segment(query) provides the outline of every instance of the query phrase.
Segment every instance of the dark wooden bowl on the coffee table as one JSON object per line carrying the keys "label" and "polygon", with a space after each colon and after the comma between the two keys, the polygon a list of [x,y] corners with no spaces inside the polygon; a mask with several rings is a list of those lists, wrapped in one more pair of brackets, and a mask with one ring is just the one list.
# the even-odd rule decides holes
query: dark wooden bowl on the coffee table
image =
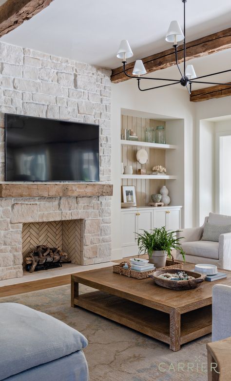
{"label": "dark wooden bowl on the coffee table", "polygon": [[152,275],[149,275],[154,279],[154,282],[158,286],[170,288],[172,290],[193,290],[200,285],[201,282],[205,280],[206,274],[194,273],[192,271],[186,271],[188,275],[194,276],[195,279],[190,280],[169,280],[164,278],[158,278],[159,275],[170,273],[181,273],[182,270],[172,269],[172,270],[157,270]]}

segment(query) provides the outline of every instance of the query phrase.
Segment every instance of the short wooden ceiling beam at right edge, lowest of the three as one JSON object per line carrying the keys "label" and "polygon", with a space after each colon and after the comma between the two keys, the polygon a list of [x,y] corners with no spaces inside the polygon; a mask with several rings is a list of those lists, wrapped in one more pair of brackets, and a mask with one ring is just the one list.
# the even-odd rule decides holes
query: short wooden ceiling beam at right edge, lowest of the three
{"label": "short wooden ceiling beam at right edge, lowest of the three", "polygon": [[[228,84],[231,84],[231,82],[228,82]],[[231,86],[216,85],[193,90],[190,96],[190,101],[202,102],[213,98],[228,97],[229,95],[231,95]]]}

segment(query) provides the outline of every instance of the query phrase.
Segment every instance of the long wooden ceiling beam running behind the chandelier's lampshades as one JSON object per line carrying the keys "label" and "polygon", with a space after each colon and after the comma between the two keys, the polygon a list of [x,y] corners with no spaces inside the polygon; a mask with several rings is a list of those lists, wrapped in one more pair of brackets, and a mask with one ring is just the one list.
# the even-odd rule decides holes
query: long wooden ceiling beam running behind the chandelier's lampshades
{"label": "long wooden ceiling beam running behind the chandelier's lampshades", "polygon": [[[213,33],[209,36],[202,37],[201,39],[188,42],[186,44],[186,60],[192,60],[193,58],[207,56],[212,53],[219,52],[231,48],[231,28],[222,30],[217,33]],[[183,45],[178,48],[179,62],[183,62]],[[156,70],[166,69],[169,66],[175,65],[174,49],[168,49],[163,52],[153,54],[152,56],[142,59],[147,70],[147,73],[152,73]],[[132,74],[132,70],[135,62],[128,63],[128,74]],[[111,81],[113,83],[123,82],[129,78],[125,76],[123,67],[117,67],[112,70]]]}

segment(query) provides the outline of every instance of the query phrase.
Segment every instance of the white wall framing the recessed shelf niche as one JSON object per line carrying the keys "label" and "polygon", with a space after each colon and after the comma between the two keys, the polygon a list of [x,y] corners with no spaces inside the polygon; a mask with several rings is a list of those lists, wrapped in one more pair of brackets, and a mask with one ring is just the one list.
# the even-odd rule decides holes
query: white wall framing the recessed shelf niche
{"label": "white wall framing the recessed shelf niche", "polygon": [[112,181],[114,196],[112,205],[112,249],[113,257],[121,254],[120,242],[120,114],[121,108],[145,113],[169,115],[184,120],[184,218],[185,226],[194,226],[194,110],[186,89],[163,88],[140,92],[136,81],[129,80],[112,84]]}

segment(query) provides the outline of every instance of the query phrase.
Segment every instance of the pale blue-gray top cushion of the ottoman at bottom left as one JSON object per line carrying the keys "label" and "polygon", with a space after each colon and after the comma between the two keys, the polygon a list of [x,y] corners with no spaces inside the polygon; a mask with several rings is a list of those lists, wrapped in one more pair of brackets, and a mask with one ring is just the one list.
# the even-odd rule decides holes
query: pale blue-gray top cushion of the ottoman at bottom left
{"label": "pale blue-gray top cushion of the ottoman at bottom left", "polygon": [[87,339],[42,312],[0,303],[0,380],[85,348]]}

